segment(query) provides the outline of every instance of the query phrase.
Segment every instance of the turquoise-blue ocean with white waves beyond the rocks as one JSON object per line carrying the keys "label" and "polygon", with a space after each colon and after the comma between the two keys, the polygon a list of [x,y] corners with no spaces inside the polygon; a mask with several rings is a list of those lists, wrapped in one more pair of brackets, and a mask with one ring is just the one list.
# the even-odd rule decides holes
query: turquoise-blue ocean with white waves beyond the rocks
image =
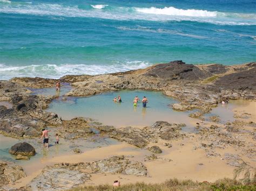
{"label": "turquoise-blue ocean with white waves beyond the rocks", "polygon": [[0,0],[0,80],[256,61],[255,0]]}

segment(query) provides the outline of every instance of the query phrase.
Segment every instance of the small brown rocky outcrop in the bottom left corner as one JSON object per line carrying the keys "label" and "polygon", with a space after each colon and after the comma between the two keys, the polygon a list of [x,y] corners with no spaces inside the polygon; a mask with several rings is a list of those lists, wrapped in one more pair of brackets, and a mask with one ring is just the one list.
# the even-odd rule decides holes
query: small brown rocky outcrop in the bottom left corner
{"label": "small brown rocky outcrop in the bottom left corner", "polygon": [[14,184],[25,176],[26,174],[21,166],[0,160],[0,189],[9,183]]}

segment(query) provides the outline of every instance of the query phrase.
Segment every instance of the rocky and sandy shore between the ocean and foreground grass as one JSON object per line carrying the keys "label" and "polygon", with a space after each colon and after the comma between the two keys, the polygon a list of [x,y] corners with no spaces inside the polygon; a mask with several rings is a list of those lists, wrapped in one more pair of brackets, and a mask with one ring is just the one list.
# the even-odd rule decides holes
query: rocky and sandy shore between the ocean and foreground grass
{"label": "rocky and sandy shore between the ocean and foreground grass", "polygon": [[[165,73],[166,66],[167,68],[171,66],[171,69],[174,68],[174,70]],[[233,71],[234,73],[229,73],[228,71],[235,67],[214,65],[213,70],[217,70],[221,75],[218,74],[217,80],[215,79],[207,84],[202,82],[209,79],[208,75],[210,73],[207,71],[212,70],[212,68],[209,69],[207,68],[208,66],[197,68],[197,66],[186,65],[178,61],[170,62],[169,65],[156,65],[124,73],[63,77],[65,82],[71,83],[73,87],[64,97],[96,95],[105,91],[131,89],[131,86],[133,89],[161,91],[163,94],[177,98],[180,101],[172,105],[172,108],[177,112],[198,109],[198,111],[192,112],[191,118],[189,118],[190,123],[198,130],[197,132],[184,132],[181,131],[182,124],[167,122],[156,122],[152,126],[135,125],[129,128],[122,126],[114,128],[99,124],[93,119],[79,117],[64,121],[59,116],[45,111],[56,96],[30,95],[31,91],[26,89],[26,87],[49,88],[55,83],[55,80],[16,78],[11,81],[0,81],[1,86],[4,87],[4,91],[0,89],[0,100],[4,101],[3,106],[0,105],[1,115],[4,119],[0,123],[0,130],[10,132],[5,135],[17,137],[20,136],[19,131],[21,131],[24,133],[23,137],[33,139],[33,137],[40,134],[39,130],[42,126],[55,126],[53,128],[56,128],[56,132],[62,132],[63,140],[65,139],[68,145],[72,145],[73,140],[78,140],[79,138],[89,140],[93,136],[98,136],[98,138],[107,136],[117,140],[119,143],[100,148],[93,147],[89,151],[80,154],[71,154],[70,151],[72,150],[70,150],[68,155],[61,154],[48,158],[45,161],[41,161],[41,170],[38,169],[35,173],[29,173],[26,178],[16,180],[16,185],[10,183],[9,187],[19,188],[31,184],[33,186],[35,182],[42,179],[41,176],[44,173],[40,172],[43,167],[43,172],[55,171],[55,169],[56,171],[58,169],[74,171],[72,165],[60,167],[53,165],[56,163],[62,164],[62,162],[65,164],[76,163],[78,167],[75,168],[74,172],[79,175],[84,173],[91,175],[91,178],[86,179],[84,183],[81,180],[80,186],[112,184],[113,179],[121,179],[121,183],[137,181],[160,183],[170,178],[214,182],[221,178],[233,178],[234,169],[241,166],[242,162],[247,165],[245,170],[250,169],[251,173],[251,169],[256,169],[256,161],[253,160],[254,154],[251,152],[255,147],[253,133],[256,123],[256,111],[254,109],[256,107],[256,91],[253,83],[248,84],[247,81],[239,82],[233,78],[240,79],[241,75],[245,75],[245,77],[251,75],[247,71],[254,71],[255,66],[256,64],[254,65],[254,63],[241,65],[240,69],[236,66],[238,70]],[[177,70],[179,71],[178,73]],[[176,74],[172,75],[174,72]],[[193,73],[197,73],[197,75]],[[198,75],[204,77],[198,79]],[[221,89],[223,87],[222,78],[226,83],[227,80],[230,80],[226,89]],[[250,76],[248,79],[251,79]],[[142,85],[139,83],[140,81],[145,81],[146,83]],[[232,83],[239,84],[237,87],[251,86],[251,89],[236,89]],[[218,90],[217,88],[220,89]],[[8,89],[7,92],[5,91],[6,89]],[[249,101],[245,101],[248,103],[246,105],[242,102],[241,105],[232,108],[231,114],[235,116],[234,121],[226,122],[225,116],[216,115],[210,120],[210,117],[206,115],[211,114],[212,108],[218,107],[218,102],[223,97],[228,97],[230,100]],[[10,105],[6,105],[6,101],[12,104],[12,108],[9,107]],[[23,104],[22,107],[21,104]],[[24,119],[26,123],[24,123]],[[9,126],[6,126],[6,123],[9,123]],[[17,124],[21,125],[19,131],[15,129]],[[23,129],[23,125],[24,127],[25,125],[29,126],[30,131]],[[161,128],[157,129],[158,126]],[[98,132],[93,132],[90,128],[95,128]],[[72,136],[69,136],[69,134]],[[100,139],[98,140],[100,141]],[[151,147],[159,147],[161,153],[149,151]],[[116,159],[111,158],[114,155],[125,155],[125,157],[116,161]],[[129,167],[140,165],[138,169],[142,172],[146,169],[146,176],[124,174],[124,172],[131,172],[131,169],[126,169],[126,166],[122,167],[123,173],[104,173],[100,166],[97,168],[91,167],[90,171],[86,169],[83,172],[83,165],[88,162],[98,164],[102,161],[104,162],[104,160],[111,160],[115,165],[126,161],[129,162]],[[79,167],[80,162],[84,162],[81,168]],[[109,162],[106,164],[109,164]],[[45,167],[46,165],[50,165],[50,167]],[[111,166],[106,166],[106,168],[112,171]],[[138,169],[136,173],[139,173],[137,172]],[[170,170],[166,171],[166,169]],[[30,172],[28,168],[26,168],[26,171]],[[132,170],[132,173],[134,172]],[[253,176],[252,173],[251,175]]]}

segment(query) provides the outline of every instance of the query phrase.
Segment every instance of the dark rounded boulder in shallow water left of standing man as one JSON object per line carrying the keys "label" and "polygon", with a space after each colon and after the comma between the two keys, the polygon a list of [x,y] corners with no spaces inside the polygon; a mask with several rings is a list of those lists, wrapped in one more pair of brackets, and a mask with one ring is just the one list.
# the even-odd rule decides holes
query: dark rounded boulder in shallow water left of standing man
{"label": "dark rounded boulder in shallow water left of standing man", "polygon": [[23,143],[16,143],[14,146],[12,146],[9,150],[9,153],[14,155],[21,154],[24,156],[33,156],[35,155],[36,150],[32,145],[26,142],[23,142]]}

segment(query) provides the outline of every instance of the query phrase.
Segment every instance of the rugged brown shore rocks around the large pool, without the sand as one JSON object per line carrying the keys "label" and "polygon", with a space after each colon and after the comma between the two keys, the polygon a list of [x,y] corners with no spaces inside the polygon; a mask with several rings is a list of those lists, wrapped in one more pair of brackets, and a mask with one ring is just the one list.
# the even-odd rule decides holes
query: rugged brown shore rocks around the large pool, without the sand
{"label": "rugged brown shore rocks around the large pool, without the sand", "polygon": [[[104,91],[124,89],[162,91],[167,96],[177,98],[180,101],[180,103],[170,105],[174,110],[185,111],[198,109],[197,112],[191,115],[191,117],[196,118],[200,118],[205,113],[210,112],[213,107],[216,107],[225,98],[233,100],[256,100],[256,62],[246,63],[244,65],[223,66],[217,64],[189,65],[182,61],[172,61],[145,69],[131,70],[129,72],[95,76],[68,75],[61,77],[60,80],[70,83],[73,87],[65,96],[89,96],[100,94]],[[0,105],[0,132],[4,136],[9,137],[34,138],[41,134],[43,127],[56,126],[59,128],[58,131],[62,132],[62,136],[65,139],[76,139],[79,137],[90,137],[96,133],[92,129],[97,129],[102,135],[107,135],[140,148],[147,148],[152,153],[157,154],[161,153],[160,148],[157,146],[148,147],[147,145],[149,143],[157,143],[159,140],[163,140],[166,142],[165,146],[171,146],[171,142],[174,139],[194,137],[207,141],[207,144],[201,144],[195,149],[204,149],[209,157],[218,155],[218,153],[214,152],[214,148],[225,148],[231,145],[248,158],[255,158],[252,148],[255,146],[255,133],[240,130],[244,126],[254,128],[256,125],[254,122],[242,121],[242,116],[238,115],[238,120],[230,124],[211,126],[199,124],[197,135],[181,132],[181,127],[184,124],[167,122],[156,122],[152,126],[143,129],[133,127],[116,129],[113,126],[99,124],[93,121],[93,119],[74,118],[70,121],[64,121],[57,114],[45,111],[55,96],[32,95],[29,89],[54,87],[56,81],[54,79],[43,79],[39,77],[15,77],[9,81],[0,81],[0,101],[7,101],[12,106],[8,108]],[[72,134],[72,137],[69,136],[70,134]],[[134,170],[131,170],[131,168],[126,169],[127,166],[134,165],[133,162],[126,157],[123,159],[121,159],[122,156],[113,157],[118,158],[118,166],[120,166],[120,163],[122,164],[120,161],[125,161],[125,165],[121,165],[122,167],[117,172],[124,173],[129,171],[134,173]],[[228,164],[238,168],[242,167],[240,175],[237,177],[241,176],[242,178],[240,179],[245,179],[244,175],[241,174],[247,174],[249,181],[255,181],[255,168],[246,164],[241,157],[227,153],[224,158]],[[145,160],[157,159],[164,160],[158,157],[158,155],[148,156]],[[110,158],[110,160],[112,159]],[[136,169],[138,170],[139,165],[139,168],[143,169],[143,172],[140,172],[140,174],[146,175],[146,169],[140,163],[139,161],[135,161],[135,165],[137,165]],[[5,169],[8,164],[2,162],[1,165]],[[76,164],[75,167],[77,168],[77,166],[81,165],[83,169],[87,168],[84,167],[84,164]],[[95,162],[95,165],[90,169],[91,171],[104,172],[104,170],[97,167],[97,162]],[[65,169],[69,169],[66,173],[71,172],[70,167],[72,167],[73,172],[73,166],[56,164],[54,168],[50,168],[52,171],[62,168],[65,174]],[[82,172],[80,169],[74,170],[74,173],[79,174],[80,183],[90,178],[88,173]],[[18,174],[20,174],[19,177],[25,176],[21,172]],[[52,174],[56,173],[52,172]],[[9,181],[1,181],[2,185],[6,185],[6,182],[13,183],[16,179],[19,179],[16,178],[13,181],[8,178],[8,175],[4,175],[6,175],[5,171],[0,174],[1,180],[2,177],[5,177],[4,180]],[[41,179],[43,178],[41,176],[39,178],[37,177],[40,181],[36,181],[36,185],[38,185],[38,182],[42,182]],[[62,178],[65,179],[65,176],[60,177],[60,179]],[[71,185],[77,186],[80,183],[73,182]],[[50,185],[48,189],[52,188],[51,186],[53,185]],[[32,188],[33,185],[30,185],[30,187]],[[42,188],[46,188],[45,185]]]}

